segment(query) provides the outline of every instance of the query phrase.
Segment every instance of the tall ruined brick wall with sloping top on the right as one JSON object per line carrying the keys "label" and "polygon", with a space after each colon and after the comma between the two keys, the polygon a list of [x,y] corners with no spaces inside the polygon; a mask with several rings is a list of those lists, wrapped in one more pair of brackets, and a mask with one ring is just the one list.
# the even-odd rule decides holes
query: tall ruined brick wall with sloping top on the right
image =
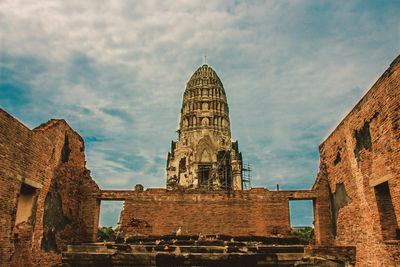
{"label": "tall ruined brick wall with sloping top on the right", "polygon": [[319,151],[316,244],[355,246],[359,266],[400,265],[400,56]]}

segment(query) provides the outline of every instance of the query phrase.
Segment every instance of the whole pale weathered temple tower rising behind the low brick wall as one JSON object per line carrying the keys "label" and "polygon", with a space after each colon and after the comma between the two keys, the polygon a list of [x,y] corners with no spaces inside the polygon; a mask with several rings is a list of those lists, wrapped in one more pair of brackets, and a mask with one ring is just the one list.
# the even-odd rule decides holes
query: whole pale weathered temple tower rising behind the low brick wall
{"label": "whole pale weathered temple tower rising behind the low brick wall", "polygon": [[186,85],[178,133],[168,153],[168,189],[242,189],[242,155],[231,140],[224,86],[206,62]]}

